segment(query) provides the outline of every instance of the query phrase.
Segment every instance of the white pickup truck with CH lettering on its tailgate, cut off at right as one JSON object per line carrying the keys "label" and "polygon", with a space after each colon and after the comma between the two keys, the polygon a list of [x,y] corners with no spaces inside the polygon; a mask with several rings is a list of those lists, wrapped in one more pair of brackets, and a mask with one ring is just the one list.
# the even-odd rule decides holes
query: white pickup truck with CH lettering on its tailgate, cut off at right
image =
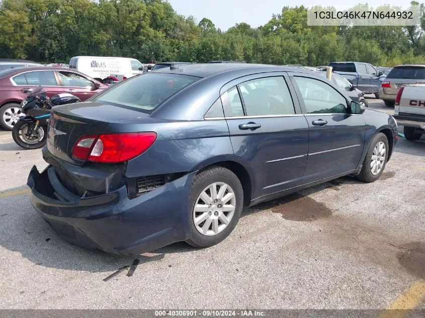
{"label": "white pickup truck with CH lettering on its tailgate, cut off at right", "polygon": [[403,85],[395,98],[394,118],[404,126],[407,140],[418,140],[425,134],[425,85]]}

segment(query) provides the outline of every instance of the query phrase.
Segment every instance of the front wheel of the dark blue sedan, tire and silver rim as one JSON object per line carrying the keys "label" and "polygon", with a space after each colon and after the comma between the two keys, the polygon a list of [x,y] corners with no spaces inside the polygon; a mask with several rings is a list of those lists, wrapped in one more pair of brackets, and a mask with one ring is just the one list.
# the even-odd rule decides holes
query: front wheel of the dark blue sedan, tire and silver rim
{"label": "front wheel of the dark blue sedan, tire and silver rim", "polygon": [[364,182],[378,180],[387,164],[388,151],[387,136],[383,133],[378,133],[369,144],[362,170],[357,178]]}

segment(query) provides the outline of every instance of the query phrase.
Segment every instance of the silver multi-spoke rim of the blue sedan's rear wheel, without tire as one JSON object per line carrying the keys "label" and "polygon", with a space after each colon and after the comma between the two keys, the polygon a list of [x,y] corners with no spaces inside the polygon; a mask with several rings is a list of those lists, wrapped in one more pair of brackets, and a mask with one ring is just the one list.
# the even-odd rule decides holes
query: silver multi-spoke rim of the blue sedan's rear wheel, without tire
{"label": "silver multi-spoke rim of the blue sedan's rear wheel, without tire", "polygon": [[233,218],[236,197],[233,189],[224,182],[214,182],[199,194],[193,208],[196,230],[205,236],[223,231]]}

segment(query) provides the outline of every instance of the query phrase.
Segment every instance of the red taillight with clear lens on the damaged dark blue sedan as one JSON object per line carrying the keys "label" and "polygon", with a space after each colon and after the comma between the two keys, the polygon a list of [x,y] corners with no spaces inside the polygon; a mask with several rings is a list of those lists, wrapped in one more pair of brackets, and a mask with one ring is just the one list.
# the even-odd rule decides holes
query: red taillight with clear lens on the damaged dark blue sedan
{"label": "red taillight with clear lens on the damaged dark blue sedan", "polygon": [[122,133],[83,136],[72,149],[72,158],[117,163],[145,152],[156,140],[156,133]]}

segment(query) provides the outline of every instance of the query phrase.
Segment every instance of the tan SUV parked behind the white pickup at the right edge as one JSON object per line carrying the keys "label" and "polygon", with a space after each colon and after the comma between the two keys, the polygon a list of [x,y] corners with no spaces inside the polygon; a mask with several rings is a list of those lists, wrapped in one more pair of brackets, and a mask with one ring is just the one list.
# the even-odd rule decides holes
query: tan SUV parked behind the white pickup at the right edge
{"label": "tan SUV parked behind the white pickup at the right edge", "polygon": [[404,84],[425,84],[425,64],[394,66],[381,84],[379,98],[388,107],[393,107],[398,89]]}

